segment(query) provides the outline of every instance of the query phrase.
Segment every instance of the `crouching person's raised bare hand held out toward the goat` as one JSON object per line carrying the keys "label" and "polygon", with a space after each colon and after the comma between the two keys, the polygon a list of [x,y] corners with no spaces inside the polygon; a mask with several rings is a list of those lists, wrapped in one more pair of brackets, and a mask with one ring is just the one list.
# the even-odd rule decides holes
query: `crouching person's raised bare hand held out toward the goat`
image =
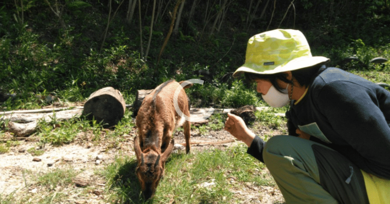
{"label": "crouching person's raised bare hand held out toward the goat", "polygon": [[248,129],[241,117],[231,113],[228,113],[228,118],[225,122],[225,130],[231,133],[235,138],[243,141],[248,147],[251,147],[252,141],[256,136]]}

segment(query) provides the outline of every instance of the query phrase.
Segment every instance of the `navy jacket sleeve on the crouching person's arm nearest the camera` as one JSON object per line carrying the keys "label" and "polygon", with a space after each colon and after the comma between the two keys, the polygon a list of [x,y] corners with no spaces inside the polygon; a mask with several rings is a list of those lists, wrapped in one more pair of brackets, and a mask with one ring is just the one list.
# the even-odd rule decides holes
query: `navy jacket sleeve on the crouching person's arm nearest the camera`
{"label": "navy jacket sleeve on the crouching person's arm nearest the camera", "polygon": [[390,127],[375,90],[351,82],[331,83],[317,98],[318,109],[347,143],[337,147],[358,167],[390,179]]}

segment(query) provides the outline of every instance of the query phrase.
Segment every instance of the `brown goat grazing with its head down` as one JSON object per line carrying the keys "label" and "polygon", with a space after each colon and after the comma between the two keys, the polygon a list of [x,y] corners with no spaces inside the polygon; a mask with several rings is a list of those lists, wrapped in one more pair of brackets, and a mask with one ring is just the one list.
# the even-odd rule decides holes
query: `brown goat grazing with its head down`
{"label": "brown goat grazing with its head down", "polygon": [[[137,114],[138,136],[134,139],[138,161],[136,174],[145,199],[153,197],[164,175],[165,162],[175,144],[172,133],[178,126],[183,125],[186,152],[190,152],[191,123],[180,117],[174,107],[174,93],[182,82],[169,80],[156,87],[144,98]],[[189,99],[183,89],[179,92],[177,104],[180,111],[190,117]]]}

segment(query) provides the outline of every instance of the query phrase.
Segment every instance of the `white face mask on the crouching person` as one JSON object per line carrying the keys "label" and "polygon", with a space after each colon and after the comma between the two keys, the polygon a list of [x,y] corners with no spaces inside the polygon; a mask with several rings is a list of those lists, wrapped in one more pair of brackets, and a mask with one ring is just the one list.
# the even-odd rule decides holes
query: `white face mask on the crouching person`
{"label": "white face mask on the crouching person", "polygon": [[263,95],[263,99],[267,102],[268,105],[274,108],[280,108],[287,105],[290,102],[289,93],[288,93],[289,84],[287,84],[285,93],[280,93],[276,90],[276,88],[272,85],[268,90],[267,94]]}

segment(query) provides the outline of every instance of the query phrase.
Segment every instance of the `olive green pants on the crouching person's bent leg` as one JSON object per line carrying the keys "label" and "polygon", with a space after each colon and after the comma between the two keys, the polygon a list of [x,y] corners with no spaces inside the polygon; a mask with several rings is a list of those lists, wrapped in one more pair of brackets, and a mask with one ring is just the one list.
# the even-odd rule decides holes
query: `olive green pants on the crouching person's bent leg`
{"label": "olive green pants on the crouching person's bent leg", "polygon": [[263,159],[287,204],[369,203],[360,169],[324,145],[277,135]]}

